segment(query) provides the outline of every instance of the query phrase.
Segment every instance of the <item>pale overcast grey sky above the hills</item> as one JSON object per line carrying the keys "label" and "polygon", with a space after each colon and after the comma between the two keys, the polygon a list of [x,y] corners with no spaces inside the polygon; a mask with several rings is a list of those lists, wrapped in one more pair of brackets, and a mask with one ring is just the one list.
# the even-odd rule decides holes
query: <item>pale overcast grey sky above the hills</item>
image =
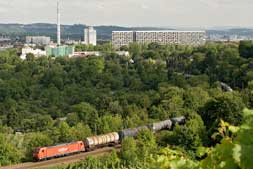
{"label": "pale overcast grey sky above the hills", "polygon": [[[253,0],[60,0],[63,24],[253,27]],[[0,0],[0,23],[55,23],[57,0]]]}

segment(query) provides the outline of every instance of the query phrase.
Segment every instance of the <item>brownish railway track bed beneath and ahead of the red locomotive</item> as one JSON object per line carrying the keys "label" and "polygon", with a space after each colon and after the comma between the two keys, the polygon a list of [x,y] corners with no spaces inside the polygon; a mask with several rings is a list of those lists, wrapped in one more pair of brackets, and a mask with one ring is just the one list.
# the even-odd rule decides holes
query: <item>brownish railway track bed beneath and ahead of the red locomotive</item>
{"label": "brownish railway track bed beneath and ahead of the red locomotive", "polygon": [[95,151],[91,152],[85,152],[81,154],[76,154],[72,156],[66,156],[62,158],[55,158],[48,161],[42,161],[42,162],[27,162],[27,163],[21,163],[13,166],[6,166],[1,167],[1,169],[32,169],[32,168],[46,168],[46,167],[52,167],[52,166],[59,166],[59,165],[68,165],[71,163],[76,163],[83,161],[85,158],[90,156],[103,156],[106,154],[109,154],[112,152],[112,150],[119,150],[120,145],[114,146],[114,147],[105,147],[101,148]]}

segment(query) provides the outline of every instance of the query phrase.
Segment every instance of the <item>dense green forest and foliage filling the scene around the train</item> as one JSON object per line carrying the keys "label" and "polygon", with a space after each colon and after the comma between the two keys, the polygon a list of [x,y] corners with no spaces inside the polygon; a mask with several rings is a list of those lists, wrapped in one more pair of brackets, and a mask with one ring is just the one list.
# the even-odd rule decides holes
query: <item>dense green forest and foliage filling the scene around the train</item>
{"label": "dense green forest and foliage filling the scene around the train", "polygon": [[31,161],[38,146],[184,115],[172,131],[143,131],[119,153],[67,168],[253,168],[252,42],[131,44],[121,48],[129,58],[100,49],[76,59],[0,53],[0,165]]}

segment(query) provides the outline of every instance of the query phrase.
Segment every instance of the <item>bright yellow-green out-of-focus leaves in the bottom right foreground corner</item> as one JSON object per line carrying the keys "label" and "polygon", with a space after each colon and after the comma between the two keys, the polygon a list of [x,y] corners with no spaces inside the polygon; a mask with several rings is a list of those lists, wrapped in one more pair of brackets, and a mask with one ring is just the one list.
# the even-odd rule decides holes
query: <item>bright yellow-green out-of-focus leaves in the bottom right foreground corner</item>
{"label": "bright yellow-green out-of-focus leaves in the bottom right foreground corner", "polygon": [[[253,112],[244,110],[243,125],[234,127],[225,125],[220,128],[220,134],[224,137],[221,144],[216,145],[209,153],[208,157],[201,161],[202,168],[225,168],[225,169],[252,169],[253,134],[252,123]],[[231,138],[224,133],[232,132],[235,137]]]}

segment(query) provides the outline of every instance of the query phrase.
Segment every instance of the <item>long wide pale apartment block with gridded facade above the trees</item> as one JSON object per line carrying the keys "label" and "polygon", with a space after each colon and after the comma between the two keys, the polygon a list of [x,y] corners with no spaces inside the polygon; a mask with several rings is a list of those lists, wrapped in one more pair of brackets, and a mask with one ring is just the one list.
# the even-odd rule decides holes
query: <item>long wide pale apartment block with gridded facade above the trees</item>
{"label": "long wide pale apartment block with gridded facade above the trees", "polygon": [[205,31],[113,31],[112,44],[119,48],[132,42],[181,45],[203,45]]}

